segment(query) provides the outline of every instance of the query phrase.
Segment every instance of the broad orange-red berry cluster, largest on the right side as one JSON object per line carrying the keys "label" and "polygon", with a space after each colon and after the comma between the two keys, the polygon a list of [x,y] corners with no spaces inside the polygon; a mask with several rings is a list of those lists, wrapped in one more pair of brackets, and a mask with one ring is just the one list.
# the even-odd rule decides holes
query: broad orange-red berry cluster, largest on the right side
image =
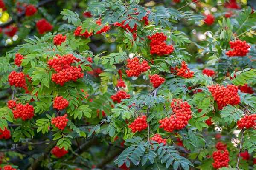
{"label": "broad orange-red berry cluster, largest on the right side", "polygon": [[237,105],[240,103],[240,97],[238,96],[238,86],[236,85],[212,85],[207,87],[215,101],[217,101],[218,109],[223,109],[223,107],[230,105]]}

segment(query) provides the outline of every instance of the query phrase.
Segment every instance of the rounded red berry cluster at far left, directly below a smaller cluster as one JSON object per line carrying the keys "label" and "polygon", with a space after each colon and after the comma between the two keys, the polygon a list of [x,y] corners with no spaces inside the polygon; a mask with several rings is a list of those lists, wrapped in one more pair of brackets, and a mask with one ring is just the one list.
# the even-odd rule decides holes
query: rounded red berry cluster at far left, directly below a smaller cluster
{"label": "rounded red berry cluster at far left, directly below a smaller cluster", "polygon": [[12,71],[8,76],[10,86],[15,85],[15,87],[25,87],[26,80],[25,74],[23,72],[17,73],[16,71]]}

